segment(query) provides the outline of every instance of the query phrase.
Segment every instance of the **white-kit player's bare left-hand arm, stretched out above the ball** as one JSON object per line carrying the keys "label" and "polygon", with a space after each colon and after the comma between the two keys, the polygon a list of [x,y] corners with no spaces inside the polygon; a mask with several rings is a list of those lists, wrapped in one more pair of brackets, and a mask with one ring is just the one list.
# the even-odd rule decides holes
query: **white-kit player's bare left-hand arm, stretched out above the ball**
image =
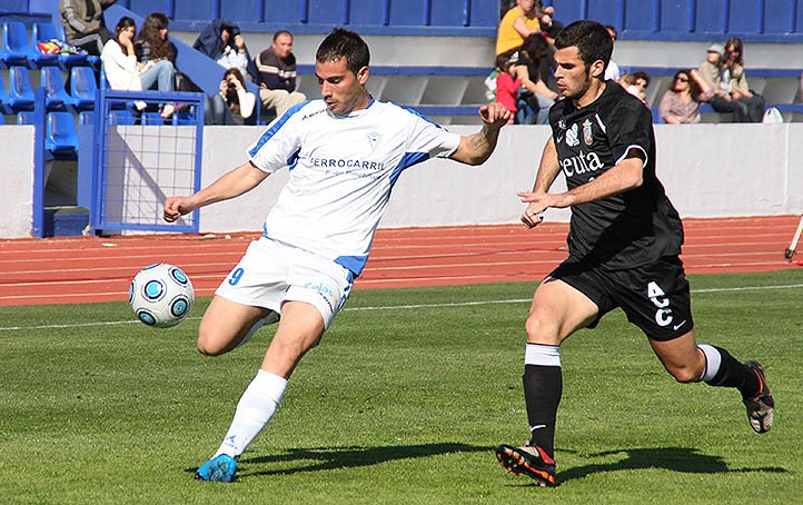
{"label": "white-kit player's bare left-hand arm, stretched out above the ball", "polygon": [[195,195],[168,198],[165,200],[162,218],[168,222],[172,222],[179,217],[206,205],[238,197],[259,186],[267,177],[268,172],[258,169],[252,162],[248,161],[224,174],[218,180]]}

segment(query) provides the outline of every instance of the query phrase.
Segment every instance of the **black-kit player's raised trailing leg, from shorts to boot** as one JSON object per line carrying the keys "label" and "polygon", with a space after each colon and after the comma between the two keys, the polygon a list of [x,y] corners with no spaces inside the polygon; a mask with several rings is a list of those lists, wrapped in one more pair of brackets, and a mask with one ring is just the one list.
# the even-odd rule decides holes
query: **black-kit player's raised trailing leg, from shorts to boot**
{"label": "black-kit player's raised trailing leg, from shorts to boot", "polygon": [[775,400],[757,362],[741,363],[721,347],[696,345],[694,331],[668,341],[651,340],[651,344],[678,382],[703,380],[710,386],[735,387],[742,394],[753,430],[766,433],[772,428]]}

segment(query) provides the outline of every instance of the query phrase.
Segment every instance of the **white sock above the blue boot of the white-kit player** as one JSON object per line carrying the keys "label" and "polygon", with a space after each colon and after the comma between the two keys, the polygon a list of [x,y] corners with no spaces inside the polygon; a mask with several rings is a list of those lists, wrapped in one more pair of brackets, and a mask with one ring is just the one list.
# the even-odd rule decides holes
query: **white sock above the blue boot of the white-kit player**
{"label": "white sock above the blue boot of the white-kit player", "polygon": [[240,397],[231,427],[212,457],[237,457],[254,442],[276,413],[287,387],[287,379],[260,369]]}

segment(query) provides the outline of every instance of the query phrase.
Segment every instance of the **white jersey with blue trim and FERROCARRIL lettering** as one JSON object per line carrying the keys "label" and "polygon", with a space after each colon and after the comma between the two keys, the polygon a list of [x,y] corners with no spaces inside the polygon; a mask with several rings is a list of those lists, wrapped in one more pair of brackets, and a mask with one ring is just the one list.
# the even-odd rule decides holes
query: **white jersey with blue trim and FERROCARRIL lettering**
{"label": "white jersey with blue trim and FERROCARRIL lettering", "polygon": [[394,103],[371,100],[348,116],[334,115],[324,100],[299,103],[248,149],[260,170],[290,169],[265,236],[358,276],[402,171],[448,157],[459,142],[458,135]]}

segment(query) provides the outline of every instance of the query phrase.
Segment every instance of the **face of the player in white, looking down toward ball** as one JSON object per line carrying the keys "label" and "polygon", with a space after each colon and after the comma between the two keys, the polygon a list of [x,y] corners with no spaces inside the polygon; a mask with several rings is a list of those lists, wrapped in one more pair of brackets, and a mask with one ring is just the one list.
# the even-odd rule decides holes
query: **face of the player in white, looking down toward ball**
{"label": "face of the player in white, looking down toward ball", "polygon": [[334,113],[345,116],[368,107],[370,96],[365,89],[368,67],[363,67],[355,76],[346,66],[345,58],[316,61],[315,76],[320,86],[320,96]]}

